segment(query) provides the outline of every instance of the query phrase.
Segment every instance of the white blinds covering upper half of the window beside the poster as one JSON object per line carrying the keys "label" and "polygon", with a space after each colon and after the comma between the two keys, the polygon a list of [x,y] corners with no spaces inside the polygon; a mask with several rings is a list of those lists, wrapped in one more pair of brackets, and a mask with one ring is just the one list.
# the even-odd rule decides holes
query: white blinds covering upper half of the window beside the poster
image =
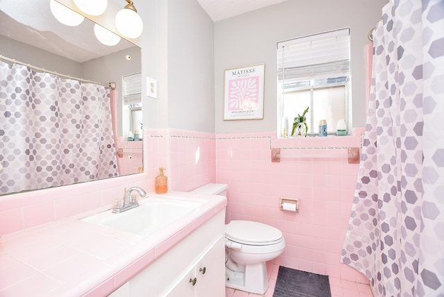
{"label": "white blinds covering upper half of the window beside the poster", "polygon": [[349,28],[278,42],[280,83],[348,77],[349,44]]}

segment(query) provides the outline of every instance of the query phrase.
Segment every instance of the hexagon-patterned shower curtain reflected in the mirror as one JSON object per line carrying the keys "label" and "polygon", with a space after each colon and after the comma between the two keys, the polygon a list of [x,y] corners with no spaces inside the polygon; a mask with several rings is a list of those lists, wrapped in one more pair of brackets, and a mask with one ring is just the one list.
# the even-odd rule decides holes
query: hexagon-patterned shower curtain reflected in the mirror
{"label": "hexagon-patterned shower curtain reflected in the mirror", "polygon": [[0,61],[0,194],[118,176],[109,89]]}

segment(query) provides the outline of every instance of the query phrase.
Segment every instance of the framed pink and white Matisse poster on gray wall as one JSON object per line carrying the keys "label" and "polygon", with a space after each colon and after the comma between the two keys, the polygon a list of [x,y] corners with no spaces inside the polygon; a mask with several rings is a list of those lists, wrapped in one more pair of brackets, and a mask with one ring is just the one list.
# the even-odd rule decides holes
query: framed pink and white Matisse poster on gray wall
{"label": "framed pink and white Matisse poster on gray wall", "polygon": [[265,64],[226,69],[223,120],[264,119]]}

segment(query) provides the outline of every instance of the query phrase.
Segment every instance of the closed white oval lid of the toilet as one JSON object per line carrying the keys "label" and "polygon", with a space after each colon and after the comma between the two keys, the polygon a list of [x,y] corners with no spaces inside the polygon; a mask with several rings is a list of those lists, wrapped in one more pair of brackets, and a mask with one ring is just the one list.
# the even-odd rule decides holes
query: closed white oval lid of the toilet
{"label": "closed white oval lid of the toilet", "polygon": [[230,221],[225,225],[225,237],[239,244],[260,246],[282,241],[282,232],[255,221]]}

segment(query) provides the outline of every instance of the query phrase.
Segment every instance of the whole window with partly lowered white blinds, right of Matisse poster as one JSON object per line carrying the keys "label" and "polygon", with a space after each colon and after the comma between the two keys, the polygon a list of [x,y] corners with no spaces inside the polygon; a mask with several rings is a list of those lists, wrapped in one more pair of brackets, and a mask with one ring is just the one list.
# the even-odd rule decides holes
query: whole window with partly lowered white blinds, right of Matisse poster
{"label": "whole window with partly lowered white blinds, right of Matisse poster", "polygon": [[293,119],[307,107],[310,136],[318,135],[321,119],[329,134],[340,119],[350,130],[349,89],[349,28],[278,42],[278,137],[284,128],[291,135]]}

